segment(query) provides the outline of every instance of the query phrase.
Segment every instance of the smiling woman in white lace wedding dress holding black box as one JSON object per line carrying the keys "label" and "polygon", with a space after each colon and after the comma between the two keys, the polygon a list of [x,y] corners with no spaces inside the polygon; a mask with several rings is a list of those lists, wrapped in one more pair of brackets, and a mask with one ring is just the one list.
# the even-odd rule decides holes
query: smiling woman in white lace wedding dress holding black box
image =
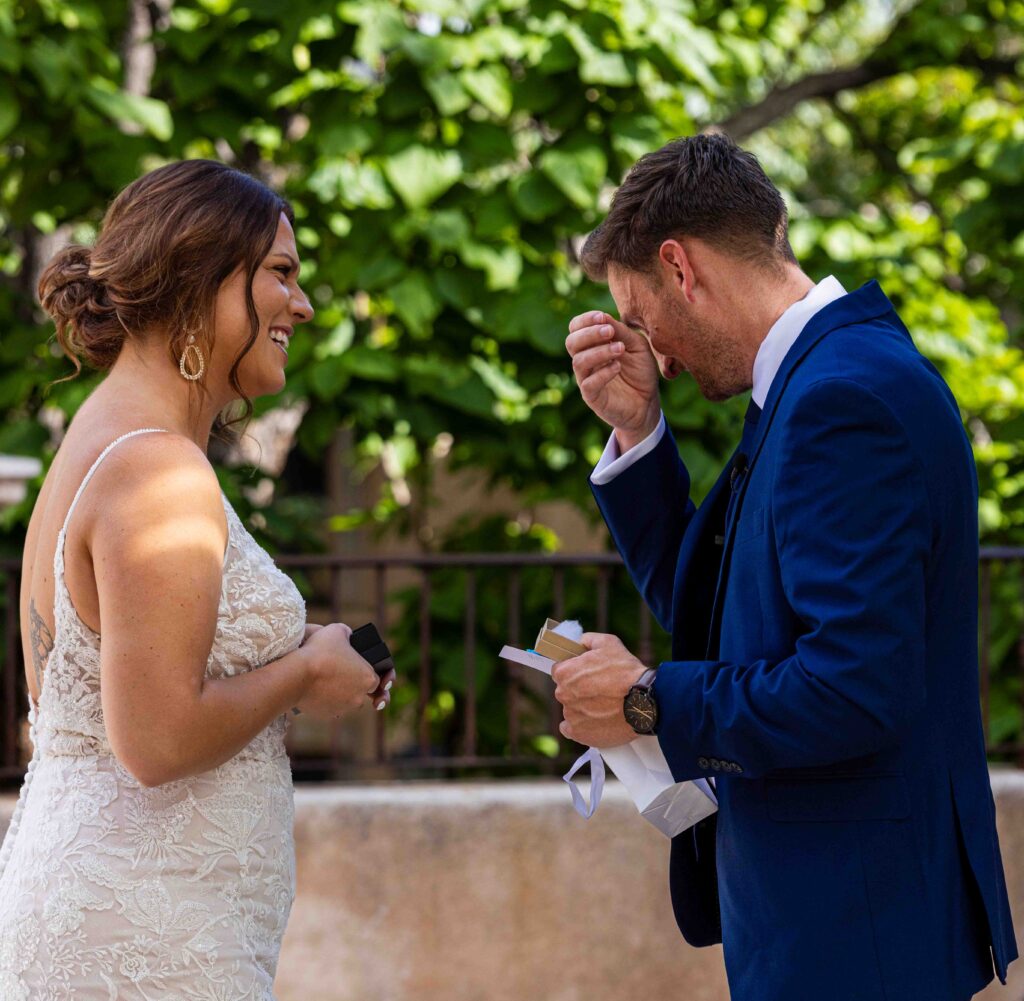
{"label": "smiling woman in white lace wedding dress holding black box", "polygon": [[0,850],[3,1001],[270,1001],[295,879],[287,713],[390,699],[348,626],[306,625],[207,459],[225,406],[285,385],[312,316],[292,219],[245,174],[175,163],[40,280],[76,367],[109,374],[26,539],[34,753]]}

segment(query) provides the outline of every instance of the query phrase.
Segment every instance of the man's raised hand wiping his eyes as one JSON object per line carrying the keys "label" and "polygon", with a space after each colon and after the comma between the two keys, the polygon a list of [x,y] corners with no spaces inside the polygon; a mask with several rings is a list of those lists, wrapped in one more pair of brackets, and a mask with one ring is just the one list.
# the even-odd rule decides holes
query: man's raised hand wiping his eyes
{"label": "man's raised hand wiping his eyes", "polygon": [[581,313],[569,321],[565,350],[584,402],[615,429],[623,451],[657,427],[658,366],[642,334],[607,313]]}

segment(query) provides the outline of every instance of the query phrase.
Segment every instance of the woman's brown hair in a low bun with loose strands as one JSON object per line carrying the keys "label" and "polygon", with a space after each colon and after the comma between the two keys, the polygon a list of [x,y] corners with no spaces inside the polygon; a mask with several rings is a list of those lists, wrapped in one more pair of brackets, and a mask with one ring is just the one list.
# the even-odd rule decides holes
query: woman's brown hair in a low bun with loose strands
{"label": "woman's brown hair in a low bun with loose strands", "polygon": [[189,334],[209,358],[217,290],[241,266],[251,333],[229,379],[245,412],[223,427],[248,420],[252,401],[238,372],[259,336],[252,282],[282,213],[294,222],[280,194],[212,160],[168,164],[129,184],[106,210],[95,245],[66,247],[39,279],[39,301],[75,364],[66,379],[82,372],[83,360],[110,368],[126,340],[155,328],[168,332],[175,365]]}

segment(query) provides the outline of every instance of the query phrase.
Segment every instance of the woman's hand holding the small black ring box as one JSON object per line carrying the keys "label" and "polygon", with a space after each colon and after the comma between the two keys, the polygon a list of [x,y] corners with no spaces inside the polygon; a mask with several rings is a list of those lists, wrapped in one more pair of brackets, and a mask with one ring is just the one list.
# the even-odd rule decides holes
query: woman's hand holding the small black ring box
{"label": "woman's hand holding the small black ring box", "polygon": [[[302,649],[307,664],[306,689],[297,708],[314,719],[336,720],[381,701],[382,680],[349,643],[352,630],[343,622],[307,625]],[[384,698],[388,698],[387,693]]]}

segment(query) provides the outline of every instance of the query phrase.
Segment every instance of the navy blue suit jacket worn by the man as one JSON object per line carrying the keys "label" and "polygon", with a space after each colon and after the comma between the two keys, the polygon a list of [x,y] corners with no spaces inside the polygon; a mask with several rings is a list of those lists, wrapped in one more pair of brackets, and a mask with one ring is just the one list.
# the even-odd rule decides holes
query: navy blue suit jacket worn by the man
{"label": "navy blue suit jacket worn by the man", "polygon": [[672,633],[662,748],[718,785],[673,839],[680,928],[736,1001],[964,1001],[1017,949],[956,402],[872,281],[807,323],[743,450],[699,508],[671,434],[594,487]]}

